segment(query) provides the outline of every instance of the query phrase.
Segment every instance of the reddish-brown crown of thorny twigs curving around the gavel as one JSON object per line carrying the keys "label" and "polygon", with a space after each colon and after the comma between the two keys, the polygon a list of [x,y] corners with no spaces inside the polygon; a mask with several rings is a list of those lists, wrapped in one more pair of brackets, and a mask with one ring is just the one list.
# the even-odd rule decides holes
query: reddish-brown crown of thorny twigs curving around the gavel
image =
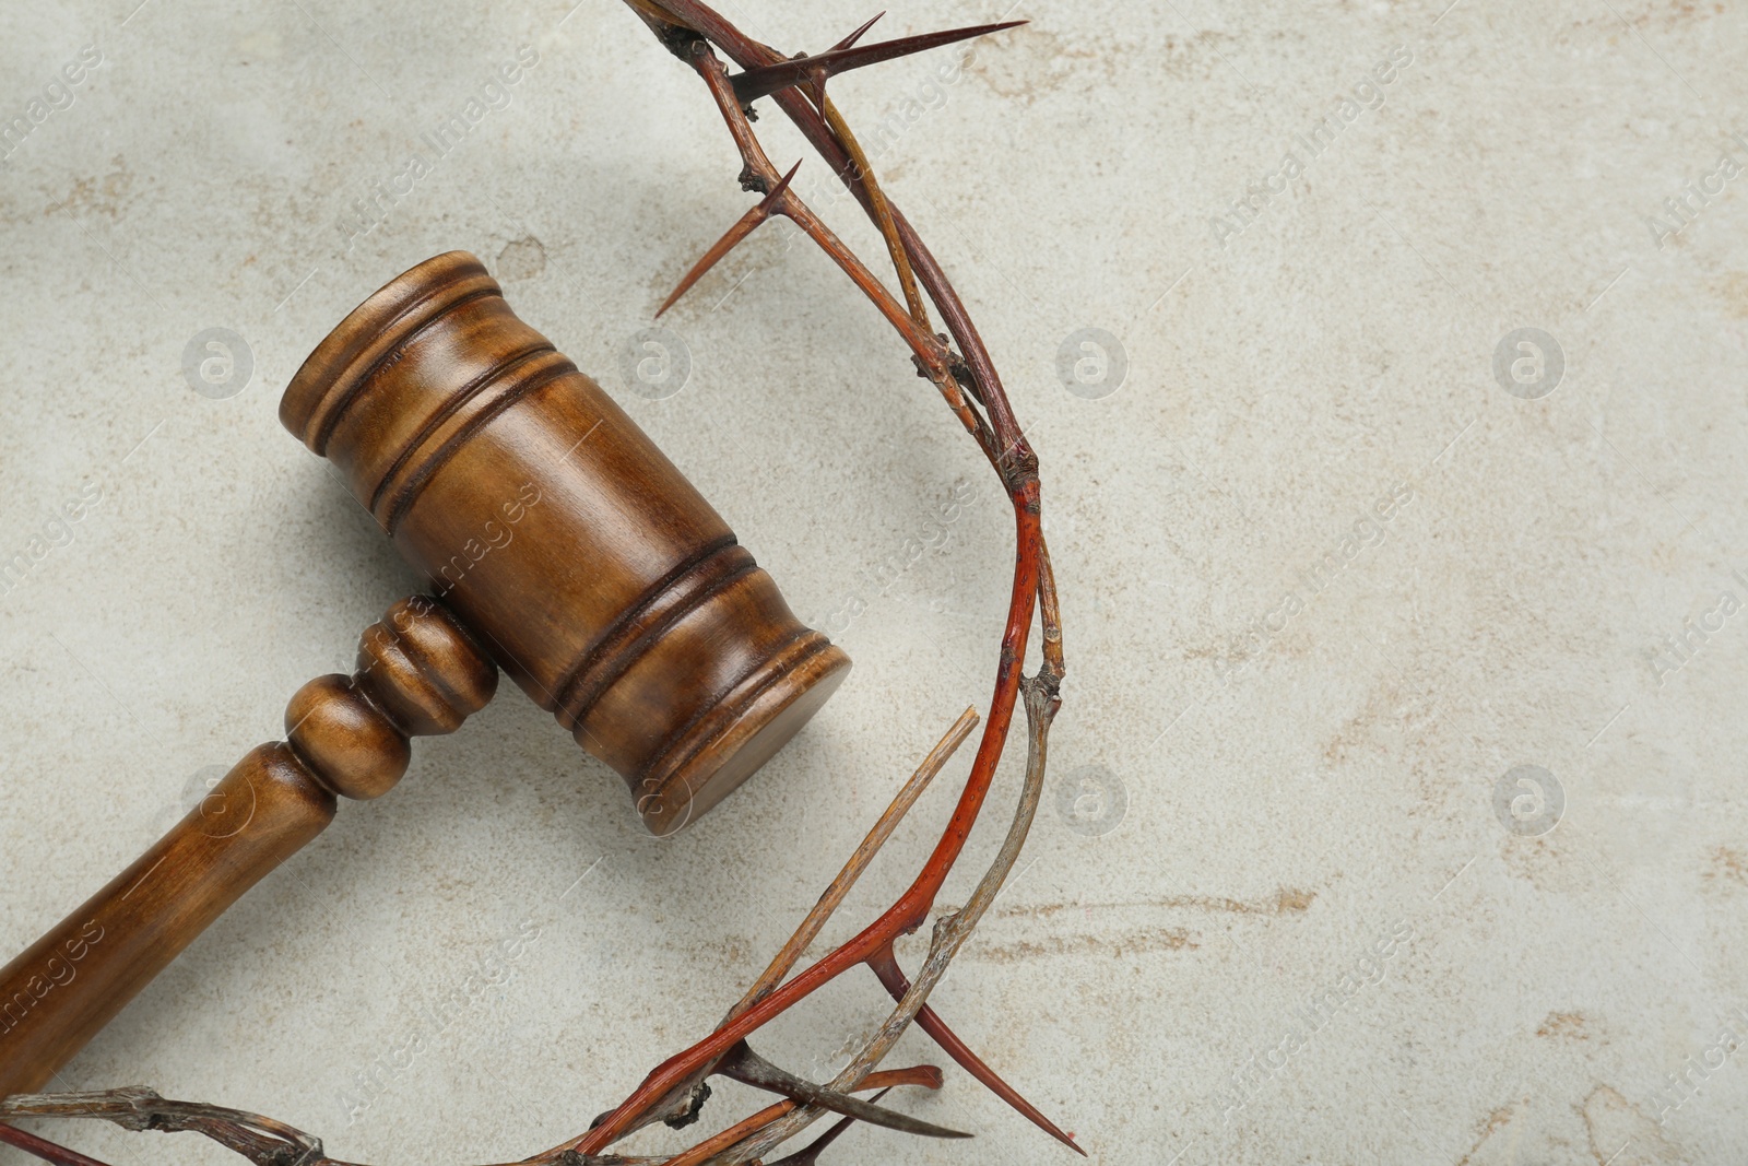
{"label": "reddish-brown crown of thorny twigs curving around the gavel", "polygon": [[[1040,528],[1038,462],[1014,418],[1007,393],[996,376],[995,362],[977,327],[972,323],[970,313],[953,290],[940,264],[876,182],[867,154],[857,142],[850,122],[825,93],[827,79],[848,68],[893,59],[965,37],[998,31],[1010,28],[1012,23],[858,45],[857,42],[874,24],[874,21],[869,21],[827,52],[790,58],[752,40],[722,14],[699,0],[626,0],[626,3],[656,33],[661,44],[687,63],[704,82],[741,156],[741,185],[762,196],[687,271],[657,315],[668,311],[687,288],[766,219],[773,215],[790,219],[808,238],[818,243],[898,332],[911,350],[918,372],[935,385],[947,407],[958,416],[991,468],[1002,479],[1002,486],[1014,507],[1014,580],[1007,624],[1002,633],[995,692],[970,774],[965,780],[965,788],[960,792],[960,799],[939,843],[911,886],[891,907],[862,928],[853,939],[790,977],[795,963],[818,937],[830,914],[844,900],[881,844],[891,836],[898,820],[916,802],[923,788],[926,788],[928,781],[940,771],[960,743],[970,736],[977,724],[977,715],[972,710],[967,710],[960,717],[904,788],[900,788],[893,804],[881,815],[879,822],[876,822],[874,829],[850,857],[850,862],[820,897],[808,918],[788,942],[783,944],[766,972],[746,989],[746,995],[729,1009],[718,1028],[692,1047],[657,1065],[619,1107],[600,1115],[587,1133],[570,1138],[544,1154],[537,1154],[521,1166],[608,1166],[624,1163],[661,1163],[662,1166],[710,1163],[713,1166],[727,1166],[734,1163],[755,1163],[773,1147],[801,1133],[808,1124],[829,1112],[841,1114],[841,1121],[808,1149],[781,1159],[783,1163],[813,1166],[820,1152],[857,1119],[907,1133],[963,1136],[867,1101],[857,1101],[850,1096],[858,1091],[879,1089],[874,1098],[877,1101],[888,1089],[897,1086],[940,1087],[940,1072],[933,1066],[877,1070],[881,1059],[891,1052],[898,1037],[912,1023],[933,1038],[947,1056],[972,1073],[974,1079],[995,1091],[1040,1129],[1080,1152],[1072,1135],[1058,1129],[1012,1086],[1002,1080],[928,1005],[930,993],[946,975],[947,967],[967,939],[970,939],[972,930],[1002,890],[1002,883],[1019,857],[1044,788],[1051,722],[1061,706],[1059,689],[1065,675],[1061,615],[1056,577]],[[879,17],[876,16],[874,19]],[[718,51],[724,56],[718,56]],[[731,73],[729,61],[739,66],[741,72]],[[764,96],[769,96],[783,115],[801,129],[802,136],[850,189],[879,231],[902,301],[797,196],[790,185],[795,168],[792,166],[785,175],[778,173],[752,126],[752,105]],[[933,332],[925,295],[928,304],[933,304],[933,309],[940,313],[947,329],[946,334]],[[1040,626],[1042,664],[1037,675],[1026,677],[1023,663],[1035,617]],[[1026,773],[1012,823],[995,860],[965,906],[935,921],[923,967],[914,979],[909,979],[898,967],[893,944],[900,935],[916,932],[928,920],[935,897],[940,893],[949,871],[958,862],[979,818],[989,785],[995,780],[1016,704],[1023,704],[1026,710],[1028,752]],[[867,965],[874,972],[881,986],[895,1000],[895,1007],[830,1082],[816,1086],[802,1080],[752,1051],[746,1044],[752,1033],[858,963]],[[607,1147],[612,1143],[657,1121],[673,1128],[682,1128],[696,1121],[699,1107],[710,1096],[706,1079],[711,1075],[732,1077],[780,1093],[783,1100],[678,1154],[659,1157],[607,1154]],[[0,1117],[98,1117],[128,1129],[196,1131],[248,1157],[255,1166],[351,1166],[327,1157],[318,1138],[283,1122],[224,1107],[170,1101],[159,1098],[150,1089],[14,1096],[0,1100]],[[56,1166],[101,1166],[101,1163],[94,1163],[73,1150],[7,1124],[0,1124],[0,1142],[35,1154]],[[773,1166],[778,1164],[773,1163]]]}

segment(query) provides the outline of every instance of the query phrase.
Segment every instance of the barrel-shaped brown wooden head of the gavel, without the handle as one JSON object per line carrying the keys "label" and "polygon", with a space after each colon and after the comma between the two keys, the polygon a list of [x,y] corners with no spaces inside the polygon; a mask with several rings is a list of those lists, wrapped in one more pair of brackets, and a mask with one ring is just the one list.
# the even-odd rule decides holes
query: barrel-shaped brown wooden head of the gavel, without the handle
{"label": "barrel-shaped brown wooden head of the gavel, without the handle", "polygon": [[309,355],[280,420],[654,834],[746,780],[850,657],[486,267],[437,255]]}

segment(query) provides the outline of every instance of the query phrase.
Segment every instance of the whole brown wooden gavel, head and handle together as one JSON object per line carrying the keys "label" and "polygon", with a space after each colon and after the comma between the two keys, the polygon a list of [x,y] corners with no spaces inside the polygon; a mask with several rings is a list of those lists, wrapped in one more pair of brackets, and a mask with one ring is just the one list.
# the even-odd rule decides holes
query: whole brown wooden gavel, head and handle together
{"label": "whole brown wooden gavel, head and handle together", "polygon": [[432,596],[311,680],[138,862],[0,970],[0,1096],[40,1089],[238,897],[386,794],[409,738],[453,732],[502,668],[617,769],[654,834],[745,781],[850,657],[802,626],[734,531],[486,267],[437,255],[292,378],[280,420],[346,475]]}

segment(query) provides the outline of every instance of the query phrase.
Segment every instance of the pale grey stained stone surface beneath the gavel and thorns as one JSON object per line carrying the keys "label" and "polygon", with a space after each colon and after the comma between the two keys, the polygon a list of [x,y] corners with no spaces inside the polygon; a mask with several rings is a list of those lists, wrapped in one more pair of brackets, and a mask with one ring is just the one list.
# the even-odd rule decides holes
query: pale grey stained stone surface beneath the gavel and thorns
{"label": "pale grey stained stone surface beneath the gavel and thorns", "polygon": [[[958,70],[939,51],[834,82],[1003,369],[1063,587],[1052,787],[937,1003],[1099,1163],[1748,1147],[1748,1061],[1718,1044],[1748,1035],[1748,145],[1729,138],[1748,133],[1748,10],[1447,2],[1023,5],[1033,23]],[[392,795],[346,806],[63,1075],[273,1114],[355,1161],[531,1154],[708,1031],[986,703],[1003,500],[897,339],[781,226],[664,318],[678,393],[621,379],[748,203],[697,80],[624,7],[135,3],[0,17],[5,119],[101,56],[0,170],[0,552],[66,544],[0,596],[0,949],[276,736],[285,699],[416,586],[274,406],[430,253],[484,257],[857,661],[671,843],[507,691],[423,741]],[[871,14],[725,10],[785,51]],[[909,3],[871,38],[996,16]],[[507,107],[379,226],[336,226],[521,45],[538,59]],[[1299,135],[1325,117],[1339,133],[1313,154]],[[759,124],[774,159],[801,156]],[[797,189],[829,203],[816,159]],[[1685,222],[1666,205],[1683,198]],[[184,374],[205,329],[246,344],[234,395]],[[1120,360],[1070,348],[1068,385],[1082,329]],[[1557,344],[1557,383],[1536,385],[1552,350],[1510,348],[1496,376],[1517,329]],[[1082,383],[1119,365],[1120,385]],[[86,517],[49,528],[87,488]],[[911,561],[907,538],[944,545]],[[1557,823],[1519,766],[1557,783]],[[905,883],[963,774],[829,937]],[[1313,998],[1330,1014],[1308,1019]],[[760,1045],[827,1075],[881,1000],[846,975]],[[907,1037],[893,1063],[916,1059],[944,1063]],[[708,1122],[748,1112],[718,1096]],[[1068,1161],[954,1068],[895,1103],[977,1142],[858,1128],[827,1161]],[[63,1135],[115,1166],[229,1161]]]}

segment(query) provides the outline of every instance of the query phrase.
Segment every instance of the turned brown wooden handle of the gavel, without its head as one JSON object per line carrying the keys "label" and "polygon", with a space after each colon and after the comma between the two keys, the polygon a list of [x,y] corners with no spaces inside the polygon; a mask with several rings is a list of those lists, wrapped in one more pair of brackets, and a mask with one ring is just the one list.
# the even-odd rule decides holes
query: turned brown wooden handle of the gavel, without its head
{"label": "turned brown wooden handle of the gavel, without its head", "polygon": [[248,752],[187,818],[0,968],[0,1098],[35,1093],[243,892],[334,820],[336,794],[386,794],[409,736],[451,732],[496,668],[435,600],[388,608],[358,671],[311,680],[288,741]]}

